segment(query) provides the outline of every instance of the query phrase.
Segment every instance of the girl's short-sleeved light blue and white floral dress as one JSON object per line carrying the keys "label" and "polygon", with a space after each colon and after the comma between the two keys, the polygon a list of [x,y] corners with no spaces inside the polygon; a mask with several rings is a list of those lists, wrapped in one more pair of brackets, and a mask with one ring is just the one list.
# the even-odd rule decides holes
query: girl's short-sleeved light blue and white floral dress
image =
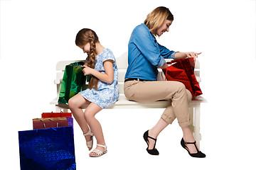
{"label": "girl's short-sleeved light blue and white floral dress", "polygon": [[98,81],[97,90],[95,89],[86,89],[85,91],[81,91],[80,94],[86,98],[88,101],[97,104],[101,108],[107,108],[114,104],[118,97],[118,72],[117,72],[117,62],[114,58],[114,55],[110,49],[105,48],[100,52],[100,55],[96,56],[95,61],[95,70],[98,72],[105,73],[105,68],[103,62],[106,60],[112,60],[113,69],[114,69],[114,81],[112,84],[107,84],[103,81]]}

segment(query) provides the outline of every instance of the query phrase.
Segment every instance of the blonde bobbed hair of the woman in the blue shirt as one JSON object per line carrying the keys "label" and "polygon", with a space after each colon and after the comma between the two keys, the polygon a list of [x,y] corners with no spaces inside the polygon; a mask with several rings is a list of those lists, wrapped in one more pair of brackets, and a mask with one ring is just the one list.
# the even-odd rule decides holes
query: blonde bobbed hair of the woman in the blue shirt
{"label": "blonde bobbed hair of the woman in the blue shirt", "polygon": [[144,24],[153,33],[154,30],[159,28],[166,20],[174,21],[174,16],[171,11],[169,11],[169,8],[159,6],[146,16]]}

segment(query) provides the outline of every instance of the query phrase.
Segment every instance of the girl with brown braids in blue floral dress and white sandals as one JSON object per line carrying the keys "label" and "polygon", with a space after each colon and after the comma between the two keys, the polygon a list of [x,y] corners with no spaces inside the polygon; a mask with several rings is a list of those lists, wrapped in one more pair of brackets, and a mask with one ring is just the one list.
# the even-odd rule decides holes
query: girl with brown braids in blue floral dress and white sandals
{"label": "girl with brown braids in blue floral dress and white sandals", "polygon": [[[119,97],[117,64],[112,51],[100,44],[93,30],[87,28],[80,30],[76,35],[75,45],[87,53],[88,57],[82,72],[85,75],[91,74],[92,79],[88,89],[70,98],[68,106],[82,129],[89,150],[92,149],[93,136],[96,137],[97,147],[89,156],[100,157],[107,153],[107,146],[102,127],[95,114],[114,104]],[[83,112],[81,107],[85,104],[89,105]]]}

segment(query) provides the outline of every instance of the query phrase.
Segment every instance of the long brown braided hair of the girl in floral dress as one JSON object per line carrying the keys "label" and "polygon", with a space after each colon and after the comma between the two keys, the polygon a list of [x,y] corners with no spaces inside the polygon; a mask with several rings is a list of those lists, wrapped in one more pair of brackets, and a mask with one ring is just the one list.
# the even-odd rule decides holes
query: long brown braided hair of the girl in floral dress
{"label": "long brown braided hair of the girl in floral dress", "polygon": [[[75,45],[79,47],[85,46],[87,43],[90,43],[90,53],[87,56],[87,66],[94,69],[95,68],[95,57],[96,57],[96,42],[100,42],[99,38],[95,31],[89,28],[83,28],[78,32],[75,38]],[[97,83],[99,79],[92,76],[89,82],[89,89],[96,89],[97,90]]]}

